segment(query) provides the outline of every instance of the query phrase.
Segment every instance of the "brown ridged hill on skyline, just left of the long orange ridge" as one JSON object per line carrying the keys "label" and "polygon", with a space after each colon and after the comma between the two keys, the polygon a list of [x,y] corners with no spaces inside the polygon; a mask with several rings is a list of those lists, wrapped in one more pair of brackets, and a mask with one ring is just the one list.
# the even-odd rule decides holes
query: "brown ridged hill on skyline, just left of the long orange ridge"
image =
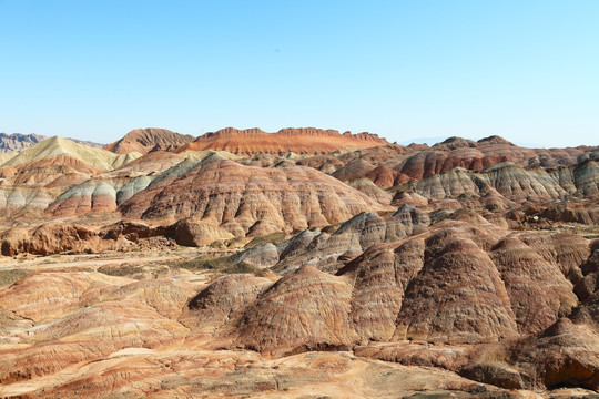
{"label": "brown ridged hill on skyline, just left of the long orange ridge", "polygon": [[122,139],[104,146],[104,150],[115,154],[129,154],[138,152],[145,154],[154,151],[174,151],[195,137],[189,134],[171,132],[166,129],[135,129],[126,133]]}

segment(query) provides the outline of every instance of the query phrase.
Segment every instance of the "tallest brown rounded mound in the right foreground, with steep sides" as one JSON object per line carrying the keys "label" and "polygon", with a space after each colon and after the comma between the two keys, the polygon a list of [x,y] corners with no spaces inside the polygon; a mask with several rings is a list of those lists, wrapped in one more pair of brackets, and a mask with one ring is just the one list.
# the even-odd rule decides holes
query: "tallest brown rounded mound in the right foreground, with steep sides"
{"label": "tallest brown rounded mound in the right foreground, with steep sides", "polygon": [[460,233],[449,228],[426,241],[425,266],[405,291],[396,339],[473,342],[516,335],[509,297],[481,237]]}

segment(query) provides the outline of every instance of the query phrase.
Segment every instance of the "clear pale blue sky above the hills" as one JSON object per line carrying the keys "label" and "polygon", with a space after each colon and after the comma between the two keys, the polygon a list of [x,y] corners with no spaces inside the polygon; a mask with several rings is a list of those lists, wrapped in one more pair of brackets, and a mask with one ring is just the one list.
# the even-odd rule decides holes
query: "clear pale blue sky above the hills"
{"label": "clear pale blue sky above the hills", "polygon": [[0,132],[599,144],[599,1],[0,0]]}

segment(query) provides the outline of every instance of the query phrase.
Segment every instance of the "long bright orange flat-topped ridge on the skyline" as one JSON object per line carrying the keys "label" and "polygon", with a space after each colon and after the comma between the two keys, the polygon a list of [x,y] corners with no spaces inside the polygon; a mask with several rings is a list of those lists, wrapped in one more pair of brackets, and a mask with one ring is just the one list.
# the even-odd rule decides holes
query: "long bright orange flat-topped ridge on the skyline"
{"label": "long bright orange flat-topped ridge on the skyline", "polygon": [[260,129],[226,127],[214,133],[206,133],[194,142],[181,146],[176,152],[216,150],[237,155],[281,155],[287,152],[316,155],[347,147],[368,149],[385,144],[389,143],[370,133],[345,132],[342,134],[335,130],[314,127],[288,127],[276,133],[266,133]]}

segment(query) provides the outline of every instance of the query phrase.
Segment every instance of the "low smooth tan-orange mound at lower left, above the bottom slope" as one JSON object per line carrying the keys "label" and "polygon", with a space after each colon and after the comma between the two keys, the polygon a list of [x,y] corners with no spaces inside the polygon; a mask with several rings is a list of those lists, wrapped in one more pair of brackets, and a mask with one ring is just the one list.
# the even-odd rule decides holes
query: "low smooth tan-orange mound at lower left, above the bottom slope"
{"label": "low smooth tan-orange mound at lower left, above the bottom slope", "polygon": [[[180,324],[140,301],[104,301],[37,329],[27,349],[3,352],[0,381],[7,385],[57,374],[73,365],[82,367],[124,348],[175,344],[185,332]],[[28,361],[31,358],[37,360]]]}

